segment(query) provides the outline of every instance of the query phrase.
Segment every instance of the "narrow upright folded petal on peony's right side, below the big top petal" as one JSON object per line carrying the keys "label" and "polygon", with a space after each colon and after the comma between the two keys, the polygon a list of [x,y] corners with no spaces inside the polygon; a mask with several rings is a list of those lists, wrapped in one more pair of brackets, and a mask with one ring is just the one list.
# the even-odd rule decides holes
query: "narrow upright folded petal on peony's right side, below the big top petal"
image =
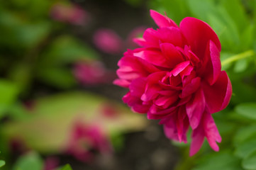
{"label": "narrow upright folded petal on peony's right side, below the big top petal", "polygon": [[209,82],[210,85],[214,84],[218,79],[219,74],[221,73],[221,59],[220,59],[220,51],[216,47],[213,41],[208,42],[208,55],[210,60],[206,65],[206,69],[204,70],[204,77]]}

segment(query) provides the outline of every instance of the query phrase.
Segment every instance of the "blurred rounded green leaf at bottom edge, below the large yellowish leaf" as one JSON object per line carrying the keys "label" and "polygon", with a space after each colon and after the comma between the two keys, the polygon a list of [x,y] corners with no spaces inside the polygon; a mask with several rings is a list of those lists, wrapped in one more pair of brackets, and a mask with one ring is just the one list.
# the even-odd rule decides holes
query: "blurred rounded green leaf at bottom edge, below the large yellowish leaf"
{"label": "blurred rounded green leaf at bottom edge, below the large yellowish leaf", "polygon": [[35,152],[30,152],[18,158],[13,170],[42,170],[43,160]]}

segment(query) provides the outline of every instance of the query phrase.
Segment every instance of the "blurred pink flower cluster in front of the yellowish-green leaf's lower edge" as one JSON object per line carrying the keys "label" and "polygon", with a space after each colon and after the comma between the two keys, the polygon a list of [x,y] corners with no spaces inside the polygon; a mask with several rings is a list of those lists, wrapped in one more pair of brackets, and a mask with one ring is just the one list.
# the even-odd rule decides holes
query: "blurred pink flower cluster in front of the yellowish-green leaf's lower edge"
{"label": "blurred pink flower cluster in front of the yellowish-green leaf's lower edge", "polygon": [[98,125],[85,125],[77,122],[69,138],[67,154],[72,154],[82,162],[91,162],[94,159],[94,149],[101,154],[112,152],[111,143],[104,131]]}

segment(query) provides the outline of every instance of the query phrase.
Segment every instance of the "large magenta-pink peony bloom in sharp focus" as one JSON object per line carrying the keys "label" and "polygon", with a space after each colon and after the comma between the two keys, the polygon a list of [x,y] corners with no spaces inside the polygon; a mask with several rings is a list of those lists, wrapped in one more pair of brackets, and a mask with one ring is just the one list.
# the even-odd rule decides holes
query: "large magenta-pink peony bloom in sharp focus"
{"label": "large magenta-pink peony bloom in sharp focus", "polygon": [[160,28],[148,28],[135,39],[142,47],[124,53],[114,84],[130,89],[123,101],[149,119],[160,119],[169,139],[187,142],[190,126],[190,155],[199,151],[204,137],[218,151],[221,136],[211,113],[226,108],[232,94],[221,71],[221,43],[199,19],[187,17],[177,26],[156,11],[150,14]]}

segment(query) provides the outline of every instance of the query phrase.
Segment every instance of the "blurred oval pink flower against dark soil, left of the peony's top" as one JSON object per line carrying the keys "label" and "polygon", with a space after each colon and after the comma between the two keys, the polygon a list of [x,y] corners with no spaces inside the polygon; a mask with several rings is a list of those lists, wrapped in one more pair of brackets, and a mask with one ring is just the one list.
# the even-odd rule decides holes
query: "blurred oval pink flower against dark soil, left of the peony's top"
{"label": "blurred oval pink flower against dark soil, left of the peony's top", "polygon": [[108,54],[118,54],[123,50],[123,41],[113,30],[102,28],[94,33],[94,44]]}

